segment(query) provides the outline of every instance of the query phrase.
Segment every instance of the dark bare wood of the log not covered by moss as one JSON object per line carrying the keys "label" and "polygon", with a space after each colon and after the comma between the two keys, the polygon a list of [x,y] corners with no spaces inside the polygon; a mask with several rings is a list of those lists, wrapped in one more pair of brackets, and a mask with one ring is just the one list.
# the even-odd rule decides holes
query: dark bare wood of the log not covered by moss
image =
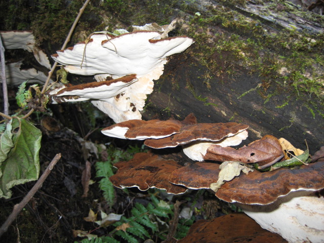
{"label": "dark bare wood of the log not covered by moss", "polygon": [[[265,3],[254,4],[253,1],[248,1],[245,7],[229,4],[224,7],[216,2],[218,1],[200,1],[201,5],[195,6],[197,8],[192,12],[199,12],[201,16],[206,17],[210,16],[209,9],[211,8],[224,8],[224,11],[234,11],[233,13],[239,11],[251,21],[261,19],[262,27],[267,29],[268,33],[279,33],[285,28],[286,31],[289,28],[296,31],[302,38],[304,32],[311,34],[323,32],[323,26],[320,23],[313,22],[303,16],[287,13],[287,11],[284,11],[285,14],[280,13],[282,11],[280,4],[273,9]],[[269,5],[275,1],[266,2]],[[270,9],[267,14],[265,14],[266,7],[268,7],[267,10]],[[186,25],[185,21],[183,25]],[[195,27],[199,31],[199,26]],[[187,26],[187,28],[189,27]],[[223,28],[221,25],[210,25],[208,31],[207,34],[212,36],[209,41],[213,42],[215,34],[235,34],[237,30]],[[228,31],[233,31],[233,33]],[[244,33],[244,35],[249,35],[249,33]],[[277,88],[265,84],[264,77],[259,72],[251,71],[239,60],[226,59],[226,53],[223,53],[223,59],[219,59],[215,52],[214,56],[210,55],[211,58],[205,60],[206,62],[221,61],[218,63],[222,67],[221,71],[213,72],[207,65],[201,65],[197,53],[194,53],[199,50],[197,47],[202,45],[202,42],[206,42],[206,40],[195,38],[195,44],[185,53],[171,58],[165,66],[164,75],[157,80],[153,93],[148,97],[146,102],[148,105],[145,107],[143,119],[168,118],[170,116],[181,119],[193,112],[198,123],[235,121],[249,125],[249,138],[246,140],[246,144],[270,134],[277,138],[286,138],[295,147],[301,149],[305,149],[304,140],[306,139],[311,153],[323,145],[324,122],[320,114],[323,107],[320,100],[316,107],[319,112],[316,111],[316,114],[313,115],[309,112],[309,108],[312,106],[297,98],[291,99],[289,104],[283,108],[278,108],[282,106],[287,97],[285,90],[279,88],[281,91],[276,93],[275,98],[266,100],[259,93],[266,91],[267,95],[271,96],[271,93],[275,92]],[[260,56],[262,58],[273,52],[276,50],[263,50]],[[224,75],[230,68],[234,69],[235,73]],[[289,68],[293,69],[294,67]],[[320,67],[318,75],[322,70],[323,67]],[[279,82],[281,81],[279,80]],[[305,94],[306,96],[307,94]]]}

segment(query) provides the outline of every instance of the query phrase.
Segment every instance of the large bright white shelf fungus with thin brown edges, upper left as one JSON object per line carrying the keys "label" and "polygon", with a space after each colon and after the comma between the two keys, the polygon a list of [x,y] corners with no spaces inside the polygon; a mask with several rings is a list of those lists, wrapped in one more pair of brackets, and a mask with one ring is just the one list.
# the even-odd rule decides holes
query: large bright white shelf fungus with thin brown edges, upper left
{"label": "large bright white shelf fungus with thin brown edges, upper left", "polygon": [[[153,91],[153,80],[163,74],[167,57],[183,52],[193,43],[193,39],[187,36],[167,36],[166,33],[147,30],[117,36],[103,31],[93,33],[85,42],[74,47],[57,51],[52,58],[70,73],[95,75],[97,81],[109,80],[109,83],[116,83],[127,75],[135,76],[131,83],[124,82],[123,89],[116,90],[113,97],[107,93],[105,97],[98,98],[96,91],[91,90],[94,84],[85,84],[87,88],[83,85],[63,87],[51,95],[60,102],[90,99],[116,123],[141,119],[140,111],[146,96]],[[96,87],[99,89],[99,86]],[[73,89],[75,94],[71,95]]]}

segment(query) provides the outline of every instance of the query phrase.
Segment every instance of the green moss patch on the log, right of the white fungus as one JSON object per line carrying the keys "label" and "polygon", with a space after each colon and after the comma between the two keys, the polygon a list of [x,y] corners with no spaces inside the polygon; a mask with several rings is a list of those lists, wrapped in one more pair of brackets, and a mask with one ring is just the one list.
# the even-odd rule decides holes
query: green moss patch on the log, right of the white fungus
{"label": "green moss patch on the log, right of the white fungus", "polygon": [[[239,5],[239,2],[231,1],[228,4]],[[274,1],[274,5],[269,5],[269,8],[284,4],[282,8],[287,11],[294,11],[308,19],[312,16],[310,13],[297,13],[295,7],[283,2]],[[279,14],[284,15],[285,11],[279,11]],[[308,110],[312,116],[321,116],[320,110],[324,106],[323,75],[320,71],[324,68],[323,34],[301,33],[294,26],[269,31],[268,26],[269,23],[263,25],[262,20],[253,15],[249,17],[216,6],[210,8],[209,12],[192,16],[186,34],[198,43],[191,50],[200,64],[208,68],[208,75],[223,80],[232,79],[239,76],[240,69],[244,67],[248,73],[260,76],[260,84],[238,98],[256,92],[267,103],[278,95],[286,96],[282,105],[277,106],[282,108],[289,104],[293,96],[309,107],[317,105],[317,110]],[[208,86],[209,89],[213,88],[210,83]],[[315,100],[317,104],[314,104]]]}

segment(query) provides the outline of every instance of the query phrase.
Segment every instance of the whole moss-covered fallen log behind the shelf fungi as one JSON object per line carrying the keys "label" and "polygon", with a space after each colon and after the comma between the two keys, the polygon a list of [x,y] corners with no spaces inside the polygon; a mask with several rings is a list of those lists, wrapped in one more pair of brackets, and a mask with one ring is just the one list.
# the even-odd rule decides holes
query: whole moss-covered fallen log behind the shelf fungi
{"label": "whole moss-covered fallen log behind the shelf fungi", "polygon": [[[4,30],[32,29],[53,54],[83,2],[4,2],[1,23]],[[143,119],[182,119],[193,112],[200,123],[248,124],[247,142],[271,134],[301,149],[307,140],[311,153],[324,145],[324,18],[289,1],[94,0],[69,45],[106,26],[131,31],[131,25],[175,18],[179,24],[170,34],[187,35],[195,44],[170,58]]]}

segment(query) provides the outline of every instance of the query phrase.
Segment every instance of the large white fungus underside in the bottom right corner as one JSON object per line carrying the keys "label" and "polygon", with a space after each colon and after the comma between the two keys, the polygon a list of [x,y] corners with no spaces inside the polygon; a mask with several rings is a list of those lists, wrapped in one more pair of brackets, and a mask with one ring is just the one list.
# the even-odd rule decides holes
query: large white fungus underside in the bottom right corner
{"label": "large white fungus underside in the bottom right corner", "polygon": [[270,205],[242,205],[242,210],[262,228],[292,243],[324,242],[324,197],[295,191]]}

